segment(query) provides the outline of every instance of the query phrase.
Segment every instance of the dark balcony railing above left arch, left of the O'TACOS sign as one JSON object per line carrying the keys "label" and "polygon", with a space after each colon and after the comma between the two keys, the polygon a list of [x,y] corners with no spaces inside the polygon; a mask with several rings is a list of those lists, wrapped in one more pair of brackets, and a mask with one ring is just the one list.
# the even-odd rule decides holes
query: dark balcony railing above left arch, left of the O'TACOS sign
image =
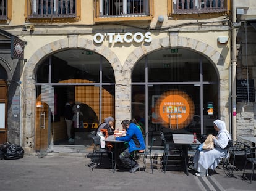
{"label": "dark balcony railing above left arch, left of the O'TACOS sign", "polygon": [[28,18],[75,18],[76,0],[28,0]]}

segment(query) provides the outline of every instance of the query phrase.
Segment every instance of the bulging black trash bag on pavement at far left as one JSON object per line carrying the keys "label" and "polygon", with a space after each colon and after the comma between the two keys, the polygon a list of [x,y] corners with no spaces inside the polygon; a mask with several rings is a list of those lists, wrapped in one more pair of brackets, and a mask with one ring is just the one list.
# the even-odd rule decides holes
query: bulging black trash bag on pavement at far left
{"label": "bulging black trash bag on pavement at far left", "polygon": [[4,159],[12,160],[23,158],[24,150],[19,145],[11,144],[6,148],[6,152],[4,152]]}

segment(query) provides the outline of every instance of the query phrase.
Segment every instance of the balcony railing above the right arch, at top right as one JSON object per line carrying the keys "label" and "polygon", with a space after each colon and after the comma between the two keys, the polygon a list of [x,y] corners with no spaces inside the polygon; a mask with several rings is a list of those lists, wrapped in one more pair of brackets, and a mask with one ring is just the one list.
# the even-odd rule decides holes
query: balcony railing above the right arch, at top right
{"label": "balcony railing above the right arch, at top right", "polygon": [[220,13],[227,10],[226,0],[170,0],[173,14]]}

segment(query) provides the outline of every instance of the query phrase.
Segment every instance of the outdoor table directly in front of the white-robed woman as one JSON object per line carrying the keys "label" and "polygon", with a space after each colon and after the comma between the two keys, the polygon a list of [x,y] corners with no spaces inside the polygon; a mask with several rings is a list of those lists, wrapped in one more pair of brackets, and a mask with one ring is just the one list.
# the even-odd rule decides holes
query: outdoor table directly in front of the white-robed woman
{"label": "outdoor table directly in front of the white-robed woman", "polygon": [[173,142],[174,144],[182,145],[182,150],[185,156],[185,173],[189,175],[189,171],[187,168],[187,164],[189,161],[189,145],[190,144],[201,144],[198,140],[194,142],[193,134],[173,134]]}

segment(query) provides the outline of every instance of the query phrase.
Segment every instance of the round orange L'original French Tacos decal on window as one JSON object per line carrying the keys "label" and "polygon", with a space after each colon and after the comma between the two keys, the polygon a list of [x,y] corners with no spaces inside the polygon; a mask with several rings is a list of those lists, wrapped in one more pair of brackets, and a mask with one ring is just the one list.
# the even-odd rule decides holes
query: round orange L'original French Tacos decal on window
{"label": "round orange L'original French Tacos decal on window", "polygon": [[154,110],[156,123],[171,129],[186,127],[195,113],[193,100],[180,90],[164,92],[156,100]]}

